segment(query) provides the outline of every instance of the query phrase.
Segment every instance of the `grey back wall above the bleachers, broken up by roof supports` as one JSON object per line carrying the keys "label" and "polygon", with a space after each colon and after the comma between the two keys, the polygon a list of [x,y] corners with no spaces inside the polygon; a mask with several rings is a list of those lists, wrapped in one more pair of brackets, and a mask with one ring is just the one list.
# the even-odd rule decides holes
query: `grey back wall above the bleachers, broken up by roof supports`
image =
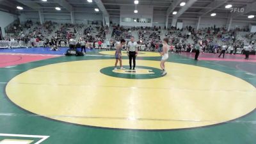
{"label": "grey back wall above the bleachers, broken up by roof supports", "polygon": [[[161,26],[161,28],[164,28],[165,26],[165,20],[166,17],[164,15],[153,15],[153,8],[151,6],[146,6],[146,8],[143,7],[138,7],[138,14],[134,15],[134,6],[131,6],[131,8],[128,8],[127,6],[124,6],[124,8],[121,8],[121,12],[120,12],[120,17],[110,17],[109,20],[111,20],[113,22],[113,24],[120,24],[121,26]],[[145,10],[144,10],[145,9]],[[3,13],[3,12],[1,12]],[[150,15],[152,14],[152,15]],[[12,14],[10,14],[12,15]],[[74,13],[75,15],[75,20],[76,23],[87,23],[87,20],[100,20],[102,21],[102,13]],[[3,17],[8,17],[10,18],[8,15],[5,16],[3,15]],[[13,15],[12,15],[13,17]],[[12,18],[11,17],[11,18]],[[17,17],[17,16],[16,16]],[[59,22],[59,23],[70,23],[71,22],[71,17],[70,17],[70,13],[62,13],[60,14],[54,14],[54,13],[50,13],[50,14],[45,14],[44,15],[45,20],[52,20],[55,22]],[[151,23],[145,24],[145,23],[140,23],[140,22],[122,22],[121,18],[122,17],[148,17],[150,19],[152,19]],[[33,21],[39,21],[39,15],[38,12],[23,12],[20,13],[20,21],[24,22],[26,20],[33,20]],[[14,19],[8,19],[8,21],[13,21]],[[178,21],[183,22],[183,26],[192,26],[193,28],[196,28],[197,19],[179,19]],[[1,20],[1,22],[7,22],[6,20]],[[10,23],[11,23],[10,22]],[[172,19],[169,19],[169,24],[168,26],[170,27],[172,23]],[[205,27],[209,27],[209,26],[214,26],[214,24],[216,25],[216,27],[225,27],[227,25],[227,19],[220,19],[220,18],[207,18],[207,17],[202,17],[201,22],[200,22],[200,27],[199,28],[205,28]],[[249,22],[246,21],[236,21],[234,20],[234,22],[232,22],[231,25],[231,29],[234,28],[248,28],[249,26]],[[1,26],[2,29],[5,28],[3,26]],[[4,32],[4,31],[3,31]]]}

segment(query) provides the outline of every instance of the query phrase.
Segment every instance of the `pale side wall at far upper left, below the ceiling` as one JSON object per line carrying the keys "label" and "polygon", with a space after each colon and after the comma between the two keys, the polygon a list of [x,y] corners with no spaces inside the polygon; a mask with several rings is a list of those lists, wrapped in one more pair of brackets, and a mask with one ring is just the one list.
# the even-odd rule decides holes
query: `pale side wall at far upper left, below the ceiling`
{"label": "pale side wall at far upper left, below the ceiling", "polygon": [[0,11],[0,27],[2,30],[3,36],[5,36],[4,28],[11,24],[14,20],[18,18],[18,15],[13,15],[12,13],[6,13]]}

